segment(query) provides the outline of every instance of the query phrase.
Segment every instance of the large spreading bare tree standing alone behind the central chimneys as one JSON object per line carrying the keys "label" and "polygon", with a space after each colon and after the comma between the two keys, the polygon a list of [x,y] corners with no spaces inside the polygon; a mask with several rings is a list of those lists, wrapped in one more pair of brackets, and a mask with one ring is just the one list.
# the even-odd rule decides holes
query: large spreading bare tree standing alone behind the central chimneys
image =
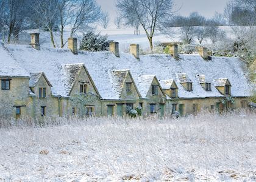
{"label": "large spreading bare tree standing alone behind the central chimneys", "polygon": [[140,22],[152,50],[155,31],[164,19],[172,16],[172,4],[172,0],[120,0],[116,7],[124,18],[130,16]]}

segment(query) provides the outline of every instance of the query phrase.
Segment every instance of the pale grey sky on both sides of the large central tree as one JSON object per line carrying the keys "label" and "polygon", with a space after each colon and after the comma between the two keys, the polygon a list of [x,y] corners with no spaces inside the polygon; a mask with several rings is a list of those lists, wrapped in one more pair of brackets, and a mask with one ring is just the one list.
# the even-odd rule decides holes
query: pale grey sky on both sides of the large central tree
{"label": "pale grey sky on both sides of the large central tree", "polygon": [[[97,0],[102,9],[107,11],[111,18],[116,16],[115,2],[118,0]],[[174,7],[179,10],[180,15],[188,16],[191,12],[210,18],[215,12],[223,13],[224,8],[229,0],[174,0]]]}

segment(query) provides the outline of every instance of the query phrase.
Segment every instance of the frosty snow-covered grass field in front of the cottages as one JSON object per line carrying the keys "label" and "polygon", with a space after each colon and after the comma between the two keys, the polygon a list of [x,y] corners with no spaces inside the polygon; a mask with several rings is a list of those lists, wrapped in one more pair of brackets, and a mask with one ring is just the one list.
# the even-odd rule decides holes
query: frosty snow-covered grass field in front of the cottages
{"label": "frosty snow-covered grass field in front of the cottages", "polygon": [[255,181],[255,118],[201,113],[2,127],[0,181]]}

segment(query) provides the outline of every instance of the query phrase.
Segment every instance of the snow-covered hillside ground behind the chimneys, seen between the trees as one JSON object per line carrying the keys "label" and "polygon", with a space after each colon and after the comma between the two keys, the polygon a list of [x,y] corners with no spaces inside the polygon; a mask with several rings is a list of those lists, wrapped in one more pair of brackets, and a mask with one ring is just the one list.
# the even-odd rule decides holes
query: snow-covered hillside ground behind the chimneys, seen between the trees
{"label": "snow-covered hillside ground behind the chimneys, seen between the trees", "polygon": [[[234,37],[231,27],[222,26],[220,27],[220,29],[226,32],[228,38]],[[41,30],[25,30],[24,32],[20,35],[21,44],[29,44],[30,36],[28,33],[40,32],[41,47],[52,47],[51,39],[49,38],[49,32],[43,32]],[[98,28],[95,32],[100,33],[101,35],[108,35],[109,40],[119,42],[119,50],[121,50],[121,52],[127,52],[127,50],[129,50],[130,44],[140,44],[141,49],[149,50],[148,38],[143,29],[140,29],[140,35],[134,35],[134,29],[127,27],[122,29],[115,29],[113,27],[110,27],[108,29]],[[64,32],[64,41],[68,40],[69,33],[69,27],[67,27]],[[75,36],[78,38],[78,42],[80,43],[80,41],[82,40],[82,32],[78,31]],[[59,32],[54,33],[54,39],[57,47],[60,47]],[[153,42],[154,44],[158,44],[160,42],[181,42],[180,27],[170,28],[168,35],[161,34],[159,32],[156,33],[153,38]],[[195,43],[197,43],[196,39]],[[210,43],[210,41],[207,41],[206,43]],[[68,45],[66,44],[65,47],[67,46]]]}

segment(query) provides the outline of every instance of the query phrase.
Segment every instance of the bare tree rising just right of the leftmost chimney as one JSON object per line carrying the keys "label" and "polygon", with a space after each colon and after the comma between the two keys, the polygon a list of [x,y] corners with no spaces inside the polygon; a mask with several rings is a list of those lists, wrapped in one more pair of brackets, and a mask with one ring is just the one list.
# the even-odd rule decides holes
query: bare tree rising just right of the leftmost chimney
{"label": "bare tree rising just right of the leftmost chimney", "polygon": [[43,26],[46,27],[50,32],[53,47],[56,47],[53,28],[54,25],[56,25],[59,21],[59,11],[56,7],[56,0],[35,0],[35,2],[32,3],[32,8],[38,14],[38,16],[40,16]]}

